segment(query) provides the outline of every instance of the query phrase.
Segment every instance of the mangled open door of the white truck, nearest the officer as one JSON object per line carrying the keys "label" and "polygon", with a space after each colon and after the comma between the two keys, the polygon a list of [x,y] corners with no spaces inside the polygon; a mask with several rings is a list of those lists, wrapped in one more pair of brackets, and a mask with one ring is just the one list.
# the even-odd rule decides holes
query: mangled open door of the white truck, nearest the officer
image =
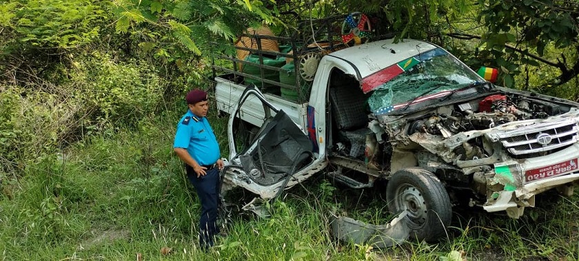
{"label": "mangled open door of the white truck, nearest the officer", "polygon": [[[222,196],[243,187],[256,198],[269,200],[325,167],[303,129],[257,88],[248,87],[231,112],[227,123],[230,158],[222,172]],[[252,126],[252,134],[237,135],[240,124]]]}

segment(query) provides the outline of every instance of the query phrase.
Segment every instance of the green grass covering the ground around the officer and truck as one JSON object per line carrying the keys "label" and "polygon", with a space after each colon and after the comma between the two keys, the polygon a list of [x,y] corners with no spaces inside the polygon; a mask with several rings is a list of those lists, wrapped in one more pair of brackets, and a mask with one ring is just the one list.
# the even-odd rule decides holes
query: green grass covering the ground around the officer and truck
{"label": "green grass covering the ground around the officer and truck", "polygon": [[[143,260],[445,260],[452,251],[469,260],[579,260],[578,196],[549,191],[519,220],[455,209],[438,244],[372,249],[334,240],[327,218],[337,210],[387,220],[380,188],[344,189],[321,175],[273,202],[269,219],[234,215],[219,246],[203,253],[199,202],[172,152],[178,118],[95,136],[3,180],[0,260],[136,260],[137,253]],[[213,120],[222,148],[225,121]],[[162,255],[162,247],[171,253]]]}

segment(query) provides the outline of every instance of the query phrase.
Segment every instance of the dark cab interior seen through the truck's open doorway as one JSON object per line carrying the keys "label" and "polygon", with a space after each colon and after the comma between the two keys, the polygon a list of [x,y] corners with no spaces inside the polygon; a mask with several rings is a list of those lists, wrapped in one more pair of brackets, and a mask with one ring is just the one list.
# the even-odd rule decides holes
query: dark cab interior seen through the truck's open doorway
{"label": "dark cab interior seen through the truck's open doorway", "polygon": [[372,133],[368,128],[368,96],[354,76],[337,68],[330,74],[328,92],[333,152],[363,160],[366,136]]}

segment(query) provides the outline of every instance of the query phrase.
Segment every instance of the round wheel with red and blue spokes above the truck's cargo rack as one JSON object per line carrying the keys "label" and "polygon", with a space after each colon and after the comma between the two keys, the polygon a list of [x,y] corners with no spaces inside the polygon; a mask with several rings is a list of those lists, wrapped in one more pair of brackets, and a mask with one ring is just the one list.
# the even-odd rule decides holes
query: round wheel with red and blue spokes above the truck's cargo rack
{"label": "round wheel with red and blue spokes above the truck's cargo rack", "polygon": [[354,45],[359,45],[367,41],[370,32],[372,32],[372,25],[366,14],[352,12],[342,24],[342,41],[349,45],[349,42],[354,40]]}

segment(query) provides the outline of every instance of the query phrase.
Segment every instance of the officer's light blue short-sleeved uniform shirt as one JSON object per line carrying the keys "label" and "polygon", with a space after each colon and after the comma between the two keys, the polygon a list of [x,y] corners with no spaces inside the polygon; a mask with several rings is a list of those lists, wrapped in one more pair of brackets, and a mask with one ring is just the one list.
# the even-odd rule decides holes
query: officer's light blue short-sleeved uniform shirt
{"label": "officer's light blue short-sleeved uniform shirt", "polygon": [[219,143],[207,118],[195,116],[189,109],[177,124],[173,147],[187,149],[199,165],[212,165],[221,156]]}

